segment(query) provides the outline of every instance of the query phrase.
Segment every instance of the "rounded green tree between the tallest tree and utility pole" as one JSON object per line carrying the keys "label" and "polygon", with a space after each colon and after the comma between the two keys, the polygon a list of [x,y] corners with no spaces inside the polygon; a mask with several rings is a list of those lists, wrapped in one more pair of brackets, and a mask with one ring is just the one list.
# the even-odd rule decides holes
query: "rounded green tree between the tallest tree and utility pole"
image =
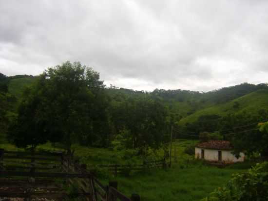
{"label": "rounded green tree between the tallest tree and utility pole", "polygon": [[149,148],[158,149],[169,138],[165,135],[165,107],[150,98],[127,98],[114,105],[112,121],[127,149],[138,149],[144,154]]}

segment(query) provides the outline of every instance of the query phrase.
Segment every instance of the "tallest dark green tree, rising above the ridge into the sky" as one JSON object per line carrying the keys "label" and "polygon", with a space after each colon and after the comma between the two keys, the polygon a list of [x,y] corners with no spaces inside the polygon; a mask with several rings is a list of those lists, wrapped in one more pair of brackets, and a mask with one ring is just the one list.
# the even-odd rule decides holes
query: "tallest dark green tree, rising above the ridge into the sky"
{"label": "tallest dark green tree, rising above the ridge into the sky", "polygon": [[103,111],[95,106],[105,98],[103,88],[99,74],[79,62],[48,68],[24,93],[10,140],[20,147],[60,141],[70,151],[72,142],[96,130],[96,113]]}

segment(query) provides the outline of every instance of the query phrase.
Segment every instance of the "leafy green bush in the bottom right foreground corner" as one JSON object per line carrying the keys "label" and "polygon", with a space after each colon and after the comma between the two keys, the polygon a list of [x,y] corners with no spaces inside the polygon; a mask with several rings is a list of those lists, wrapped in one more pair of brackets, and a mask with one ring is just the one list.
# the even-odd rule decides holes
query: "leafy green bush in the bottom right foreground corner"
{"label": "leafy green bush in the bottom right foreground corner", "polygon": [[225,187],[202,201],[268,201],[268,162],[257,163],[244,173],[234,174]]}

